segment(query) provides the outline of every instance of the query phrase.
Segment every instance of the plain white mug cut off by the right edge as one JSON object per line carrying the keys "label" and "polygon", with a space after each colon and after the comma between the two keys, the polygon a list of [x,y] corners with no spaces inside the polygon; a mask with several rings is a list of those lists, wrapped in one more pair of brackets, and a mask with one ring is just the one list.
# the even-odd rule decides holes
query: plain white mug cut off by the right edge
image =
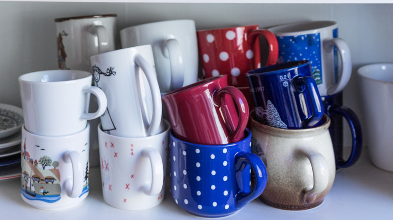
{"label": "plain white mug cut off by the right edge", "polygon": [[371,162],[393,172],[393,63],[375,63],[357,71],[365,138]]}

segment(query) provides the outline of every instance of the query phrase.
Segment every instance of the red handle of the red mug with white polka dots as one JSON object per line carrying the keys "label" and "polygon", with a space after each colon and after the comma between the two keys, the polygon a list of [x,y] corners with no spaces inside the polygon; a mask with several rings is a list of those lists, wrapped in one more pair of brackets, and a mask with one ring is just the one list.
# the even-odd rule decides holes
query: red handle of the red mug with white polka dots
{"label": "red handle of the red mug with white polka dots", "polygon": [[262,35],[268,42],[269,47],[269,56],[266,62],[266,66],[274,65],[277,63],[278,53],[279,53],[279,45],[277,42],[277,38],[273,32],[266,29],[257,29],[251,31],[249,34],[250,39],[256,39],[257,36]]}

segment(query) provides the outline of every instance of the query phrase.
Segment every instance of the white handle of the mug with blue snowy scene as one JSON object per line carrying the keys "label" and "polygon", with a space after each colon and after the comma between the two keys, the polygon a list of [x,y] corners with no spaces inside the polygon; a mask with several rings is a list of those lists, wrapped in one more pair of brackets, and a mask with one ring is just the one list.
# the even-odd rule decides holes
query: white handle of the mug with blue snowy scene
{"label": "white handle of the mug with blue snowy scene", "polygon": [[342,70],[341,74],[339,74],[340,79],[336,85],[331,85],[328,87],[328,95],[336,94],[343,90],[344,87],[348,84],[352,73],[351,51],[349,50],[347,42],[341,38],[328,38],[323,41],[323,49],[326,53],[331,53],[335,46],[340,53]]}

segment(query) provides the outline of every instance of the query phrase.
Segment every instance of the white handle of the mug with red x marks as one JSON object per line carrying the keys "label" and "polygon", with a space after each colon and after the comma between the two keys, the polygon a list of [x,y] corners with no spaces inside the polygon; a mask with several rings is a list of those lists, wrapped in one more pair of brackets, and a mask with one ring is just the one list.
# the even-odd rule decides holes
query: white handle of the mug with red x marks
{"label": "white handle of the mug with red x marks", "polygon": [[142,156],[150,160],[152,169],[152,181],[141,186],[141,191],[146,195],[157,195],[161,192],[164,184],[164,166],[160,153],[154,148],[147,148],[142,151]]}

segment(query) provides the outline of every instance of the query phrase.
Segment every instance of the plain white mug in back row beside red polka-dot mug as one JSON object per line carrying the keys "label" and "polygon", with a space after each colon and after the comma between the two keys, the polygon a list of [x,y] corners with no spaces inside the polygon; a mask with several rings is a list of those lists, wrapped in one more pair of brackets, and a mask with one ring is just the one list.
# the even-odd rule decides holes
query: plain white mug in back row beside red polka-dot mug
{"label": "plain white mug in back row beside red polka-dot mug", "polygon": [[120,31],[121,47],[151,44],[161,92],[197,82],[198,42],[192,20],[142,24]]}

